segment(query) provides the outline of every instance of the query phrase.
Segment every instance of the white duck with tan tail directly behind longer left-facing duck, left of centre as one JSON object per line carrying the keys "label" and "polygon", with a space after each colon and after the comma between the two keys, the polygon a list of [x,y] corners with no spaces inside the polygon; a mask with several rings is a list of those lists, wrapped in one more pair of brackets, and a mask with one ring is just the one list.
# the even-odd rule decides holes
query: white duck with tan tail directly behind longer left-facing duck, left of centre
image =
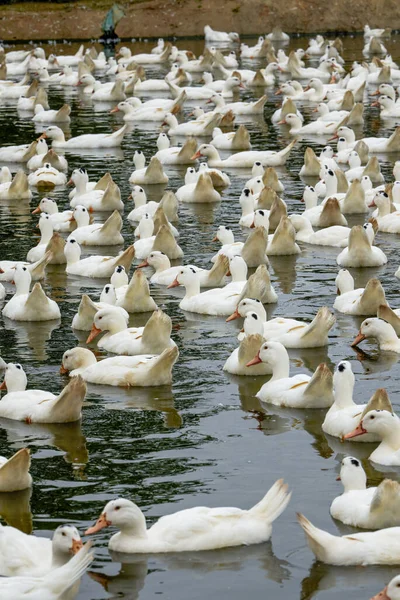
{"label": "white duck with tan tail directly behind longer left-facing duck, left of centre", "polygon": [[176,345],[170,337],[171,331],[171,319],[161,310],[155,311],[144,327],[128,328],[128,320],[121,312],[102,308],[94,316],[86,343],[105,332],[97,342],[98,348],[125,356],[155,355]]}

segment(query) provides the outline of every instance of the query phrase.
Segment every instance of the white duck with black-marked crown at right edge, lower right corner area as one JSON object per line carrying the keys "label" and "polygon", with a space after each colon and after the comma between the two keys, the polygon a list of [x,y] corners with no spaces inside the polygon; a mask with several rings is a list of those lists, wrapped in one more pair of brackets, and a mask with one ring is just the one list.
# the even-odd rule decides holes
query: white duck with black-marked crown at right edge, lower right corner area
{"label": "white duck with black-marked crown at right edge, lower right corner area", "polygon": [[330,513],[334,519],[361,529],[399,525],[400,484],[397,481],[385,479],[378,487],[367,488],[367,475],[360,461],[351,456],[342,460],[338,479],[344,492],[331,504]]}

